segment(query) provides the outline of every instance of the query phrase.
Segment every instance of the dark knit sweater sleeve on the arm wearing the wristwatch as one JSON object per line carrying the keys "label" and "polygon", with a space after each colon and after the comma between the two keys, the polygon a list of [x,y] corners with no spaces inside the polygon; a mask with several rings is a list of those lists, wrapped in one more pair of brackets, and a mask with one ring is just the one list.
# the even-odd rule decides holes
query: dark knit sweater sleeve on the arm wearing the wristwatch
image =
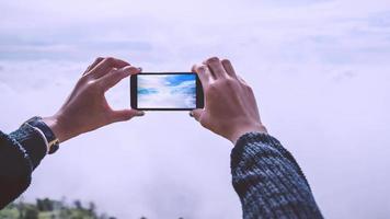
{"label": "dark knit sweater sleeve on the arm wearing the wristwatch", "polygon": [[0,209],[28,187],[46,150],[45,140],[31,126],[23,125],[10,135],[0,131]]}

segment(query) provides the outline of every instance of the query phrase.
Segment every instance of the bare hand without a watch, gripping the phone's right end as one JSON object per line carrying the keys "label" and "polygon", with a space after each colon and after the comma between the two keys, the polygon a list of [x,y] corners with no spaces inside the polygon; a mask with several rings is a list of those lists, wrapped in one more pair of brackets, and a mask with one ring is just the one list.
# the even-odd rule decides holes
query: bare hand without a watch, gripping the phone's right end
{"label": "bare hand without a watch, gripping the phone's right end", "polygon": [[249,131],[266,132],[260,120],[251,87],[239,76],[229,60],[213,57],[193,67],[205,93],[205,108],[190,113],[205,128],[236,143]]}

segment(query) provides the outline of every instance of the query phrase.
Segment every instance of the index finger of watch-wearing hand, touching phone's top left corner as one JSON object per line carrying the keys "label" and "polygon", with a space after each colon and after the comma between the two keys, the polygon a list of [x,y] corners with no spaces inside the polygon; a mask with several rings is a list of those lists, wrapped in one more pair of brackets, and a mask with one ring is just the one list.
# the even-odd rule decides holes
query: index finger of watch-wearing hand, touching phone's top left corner
{"label": "index finger of watch-wearing hand, touching phone's top left corner", "polygon": [[102,84],[104,91],[113,88],[122,79],[129,77],[130,74],[137,74],[140,72],[140,68],[134,66],[126,66],[122,69],[113,68],[107,74],[99,79],[99,82]]}

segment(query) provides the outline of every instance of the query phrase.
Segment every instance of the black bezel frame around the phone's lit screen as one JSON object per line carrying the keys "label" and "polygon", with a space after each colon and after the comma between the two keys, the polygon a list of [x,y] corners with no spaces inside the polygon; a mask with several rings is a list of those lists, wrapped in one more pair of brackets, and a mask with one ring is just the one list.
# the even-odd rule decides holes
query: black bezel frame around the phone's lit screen
{"label": "black bezel frame around the phone's lit screen", "polygon": [[[199,80],[199,77],[195,72],[141,72],[138,74],[187,74],[192,73],[196,76],[196,108],[203,108],[204,107],[204,93],[203,93],[203,87]],[[137,90],[138,90],[138,83],[137,83],[137,76],[138,74],[133,74],[130,76],[130,105],[131,108],[139,110],[139,111],[192,111],[195,108],[138,108],[138,96],[137,96]]]}

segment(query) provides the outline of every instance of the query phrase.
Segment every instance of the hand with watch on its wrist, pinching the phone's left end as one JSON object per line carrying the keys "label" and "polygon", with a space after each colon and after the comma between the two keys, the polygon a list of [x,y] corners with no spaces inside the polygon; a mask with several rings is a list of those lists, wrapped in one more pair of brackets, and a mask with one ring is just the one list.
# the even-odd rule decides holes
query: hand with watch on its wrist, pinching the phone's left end
{"label": "hand with watch on its wrist, pinching the phone's left end", "polygon": [[82,74],[61,108],[44,122],[60,142],[115,122],[142,116],[136,110],[113,111],[104,93],[140,69],[115,58],[97,58]]}

